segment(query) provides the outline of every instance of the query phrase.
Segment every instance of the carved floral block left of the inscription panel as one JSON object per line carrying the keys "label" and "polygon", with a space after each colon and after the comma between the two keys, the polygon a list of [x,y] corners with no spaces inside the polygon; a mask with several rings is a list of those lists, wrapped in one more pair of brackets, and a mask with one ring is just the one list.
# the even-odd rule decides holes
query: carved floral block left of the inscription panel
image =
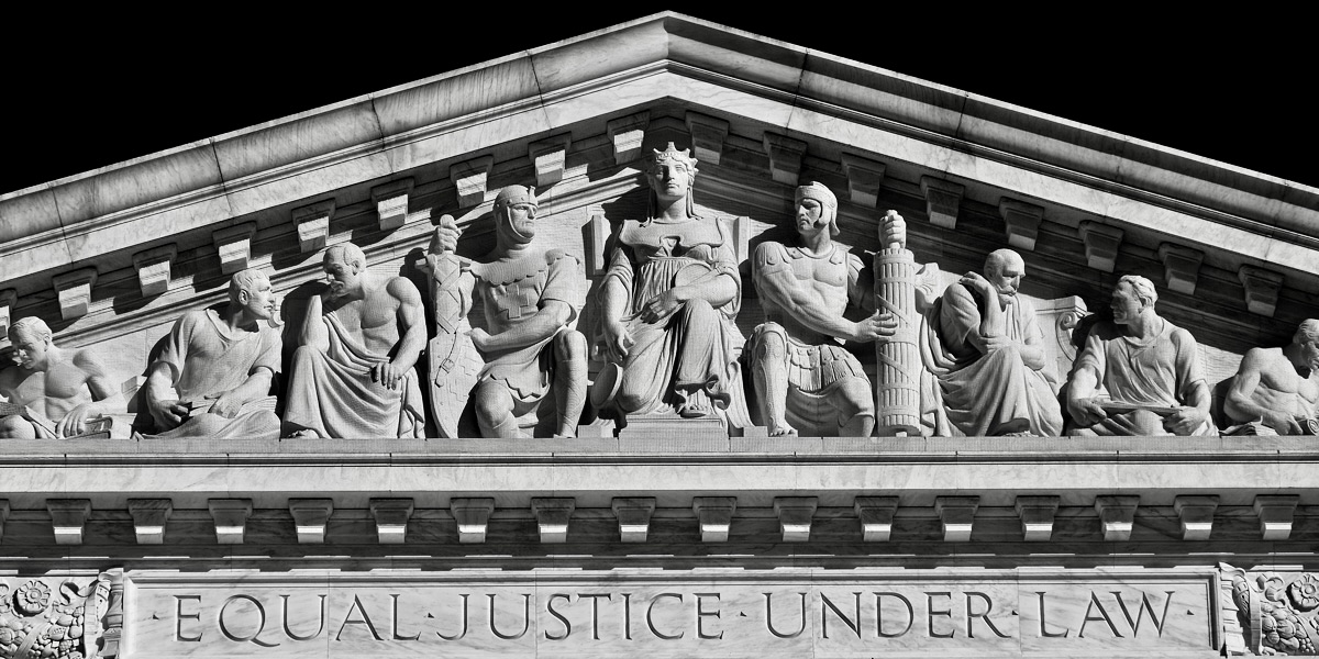
{"label": "carved floral block left of the inscription panel", "polygon": [[0,659],[92,659],[102,654],[99,612],[109,581],[0,580]]}

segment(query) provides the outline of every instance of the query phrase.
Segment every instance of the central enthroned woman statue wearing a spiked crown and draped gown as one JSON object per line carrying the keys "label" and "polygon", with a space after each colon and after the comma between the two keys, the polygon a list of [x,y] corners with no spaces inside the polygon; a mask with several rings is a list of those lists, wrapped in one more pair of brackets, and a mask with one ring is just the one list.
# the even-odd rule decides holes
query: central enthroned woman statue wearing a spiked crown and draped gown
{"label": "central enthroned woman statue wearing a spiked crown and draped gown", "polygon": [[732,229],[695,214],[687,150],[653,152],[648,174],[646,217],[624,220],[605,252],[598,340],[609,366],[595,386],[609,391],[594,398],[612,414],[720,414],[744,427]]}

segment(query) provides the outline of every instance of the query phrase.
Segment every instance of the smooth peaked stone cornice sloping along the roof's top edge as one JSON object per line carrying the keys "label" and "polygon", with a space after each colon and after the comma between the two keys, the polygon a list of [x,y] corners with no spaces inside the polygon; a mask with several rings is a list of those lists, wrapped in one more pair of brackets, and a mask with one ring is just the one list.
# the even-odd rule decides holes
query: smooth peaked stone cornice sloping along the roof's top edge
{"label": "smooth peaked stone cornice sloping along the roof's top edge", "polygon": [[3,195],[3,278],[673,100],[816,142],[864,127],[880,158],[1182,236],[1229,269],[1310,277],[1319,250],[1319,190],[666,12]]}

